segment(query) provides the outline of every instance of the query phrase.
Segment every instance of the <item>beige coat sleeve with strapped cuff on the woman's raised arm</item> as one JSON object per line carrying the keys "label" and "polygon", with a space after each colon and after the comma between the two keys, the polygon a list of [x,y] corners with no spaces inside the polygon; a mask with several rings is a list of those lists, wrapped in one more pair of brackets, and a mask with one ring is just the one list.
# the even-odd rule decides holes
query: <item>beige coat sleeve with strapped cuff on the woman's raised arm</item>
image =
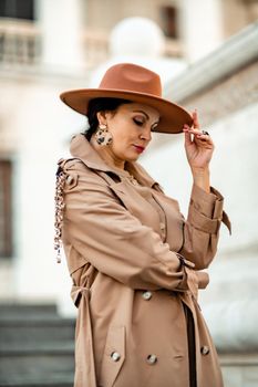
{"label": "beige coat sleeve with strapped cuff on the woman's raised arm", "polygon": [[221,221],[231,232],[230,221],[223,210],[224,198],[215,189],[207,194],[193,186],[188,217],[184,222],[184,243],[179,251],[187,260],[195,263],[195,269],[206,269],[217,251]]}

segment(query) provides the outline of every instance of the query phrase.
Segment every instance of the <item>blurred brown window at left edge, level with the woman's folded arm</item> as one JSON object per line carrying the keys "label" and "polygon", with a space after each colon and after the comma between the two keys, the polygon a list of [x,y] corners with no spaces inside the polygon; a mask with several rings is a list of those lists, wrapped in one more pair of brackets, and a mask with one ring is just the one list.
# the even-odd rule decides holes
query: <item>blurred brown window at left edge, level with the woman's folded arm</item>
{"label": "blurred brown window at left edge, level with the woman's folded arm", "polygon": [[0,258],[12,254],[11,175],[11,163],[0,160]]}

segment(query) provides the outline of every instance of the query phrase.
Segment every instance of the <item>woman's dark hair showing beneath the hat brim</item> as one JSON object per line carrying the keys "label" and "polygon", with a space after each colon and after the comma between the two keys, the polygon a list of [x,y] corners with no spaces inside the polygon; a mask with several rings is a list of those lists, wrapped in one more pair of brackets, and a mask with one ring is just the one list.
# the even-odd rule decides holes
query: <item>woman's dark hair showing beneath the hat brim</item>
{"label": "woman's dark hair showing beneath the hat brim", "polygon": [[84,132],[84,136],[90,142],[92,135],[96,132],[99,126],[99,121],[96,117],[97,112],[109,111],[114,112],[123,104],[130,104],[131,101],[122,100],[122,98],[93,98],[89,102],[87,106],[87,122],[89,122],[89,129]]}

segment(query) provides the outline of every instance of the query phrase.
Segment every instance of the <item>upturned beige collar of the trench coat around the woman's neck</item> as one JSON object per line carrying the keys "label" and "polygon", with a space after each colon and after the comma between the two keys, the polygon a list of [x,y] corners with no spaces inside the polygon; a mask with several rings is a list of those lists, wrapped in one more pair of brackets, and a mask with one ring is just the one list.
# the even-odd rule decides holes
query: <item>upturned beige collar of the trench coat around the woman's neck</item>
{"label": "upturned beige collar of the trench coat around the woman's neck", "polygon": [[83,134],[72,137],[70,153],[91,169],[112,172],[120,178],[133,175],[140,182],[147,187],[153,187],[156,184],[156,181],[137,163],[126,161],[126,170],[109,166],[91,146]]}

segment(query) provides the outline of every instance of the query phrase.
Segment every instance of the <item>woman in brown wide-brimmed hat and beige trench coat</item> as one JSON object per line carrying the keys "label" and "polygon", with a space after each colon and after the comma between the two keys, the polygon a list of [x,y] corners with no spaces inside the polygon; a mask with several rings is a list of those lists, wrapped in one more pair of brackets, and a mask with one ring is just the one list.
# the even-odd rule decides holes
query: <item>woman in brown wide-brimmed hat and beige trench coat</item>
{"label": "woman in brown wide-brimmed hat and beige trench coat", "polygon": [[[220,222],[230,228],[209,186],[210,136],[196,112],[162,98],[157,74],[134,64],[61,98],[90,125],[72,139],[73,158],[59,161],[56,186],[55,248],[62,238],[79,307],[74,386],[223,386],[197,304]],[[187,220],[136,163],[152,132],[184,132]]]}

